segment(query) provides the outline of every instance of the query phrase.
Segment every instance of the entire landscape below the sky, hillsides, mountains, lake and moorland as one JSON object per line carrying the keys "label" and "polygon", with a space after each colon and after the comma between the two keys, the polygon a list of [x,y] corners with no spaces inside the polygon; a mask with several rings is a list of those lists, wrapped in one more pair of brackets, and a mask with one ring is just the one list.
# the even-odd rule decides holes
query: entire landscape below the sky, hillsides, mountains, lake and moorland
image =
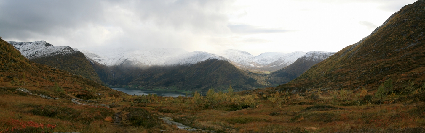
{"label": "entire landscape below the sky, hillsides, mountains, lake and moorland", "polygon": [[0,37],[0,133],[424,133],[425,0],[338,52]]}

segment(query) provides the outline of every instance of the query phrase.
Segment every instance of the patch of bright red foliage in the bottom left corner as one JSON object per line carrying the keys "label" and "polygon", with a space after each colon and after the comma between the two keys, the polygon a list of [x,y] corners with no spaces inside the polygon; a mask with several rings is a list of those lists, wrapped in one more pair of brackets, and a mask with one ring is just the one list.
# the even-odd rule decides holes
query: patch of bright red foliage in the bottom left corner
{"label": "patch of bright red foliage in the bottom left corner", "polygon": [[7,121],[7,125],[11,128],[0,131],[0,133],[52,133],[56,125],[37,122],[23,122],[16,119],[10,119]]}

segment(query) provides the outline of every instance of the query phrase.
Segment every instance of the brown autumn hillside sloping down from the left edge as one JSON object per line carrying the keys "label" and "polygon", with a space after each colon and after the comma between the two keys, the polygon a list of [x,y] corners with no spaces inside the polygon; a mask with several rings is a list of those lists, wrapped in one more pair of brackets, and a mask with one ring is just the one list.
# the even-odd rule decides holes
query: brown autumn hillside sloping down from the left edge
{"label": "brown autumn hillside sloping down from the left edge", "polygon": [[0,39],[0,76],[0,86],[21,86],[50,97],[95,99],[99,94],[123,95],[79,75],[33,63],[3,39]]}

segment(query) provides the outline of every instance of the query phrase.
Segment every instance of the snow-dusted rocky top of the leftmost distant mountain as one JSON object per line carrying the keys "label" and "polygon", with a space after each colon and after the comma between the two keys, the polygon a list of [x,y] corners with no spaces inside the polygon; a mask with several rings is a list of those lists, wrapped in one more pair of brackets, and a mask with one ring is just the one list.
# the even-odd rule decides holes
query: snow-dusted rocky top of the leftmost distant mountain
{"label": "snow-dusted rocky top of the leftmost distant mountain", "polygon": [[17,50],[21,52],[28,59],[53,56],[53,55],[66,55],[75,53],[71,47],[66,46],[54,46],[45,41],[37,42],[13,42],[7,41],[13,45]]}

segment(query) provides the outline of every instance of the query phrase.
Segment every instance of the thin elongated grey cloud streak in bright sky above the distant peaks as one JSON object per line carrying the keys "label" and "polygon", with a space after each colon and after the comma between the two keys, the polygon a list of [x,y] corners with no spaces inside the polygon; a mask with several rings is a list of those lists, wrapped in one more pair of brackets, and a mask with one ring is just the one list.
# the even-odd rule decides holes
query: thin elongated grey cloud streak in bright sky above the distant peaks
{"label": "thin elongated grey cloud streak in bright sky above the distant peaks", "polygon": [[238,34],[283,33],[291,31],[282,28],[262,28],[261,26],[247,24],[228,24],[227,27],[229,27],[233,33]]}

